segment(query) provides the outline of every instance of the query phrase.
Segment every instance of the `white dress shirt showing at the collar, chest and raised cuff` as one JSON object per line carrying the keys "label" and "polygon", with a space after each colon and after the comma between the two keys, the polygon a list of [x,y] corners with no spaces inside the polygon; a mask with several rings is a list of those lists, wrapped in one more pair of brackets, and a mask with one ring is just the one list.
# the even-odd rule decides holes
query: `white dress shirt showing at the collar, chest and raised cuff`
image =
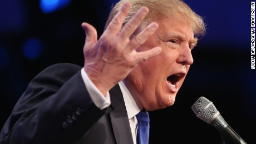
{"label": "white dress shirt showing at the collar, chest and raised cuff", "polygon": [[[81,69],[81,75],[83,78],[83,82],[85,82],[86,89],[91,96],[92,101],[95,103],[97,107],[101,110],[110,106],[110,94],[107,92],[106,97],[102,95],[102,93],[98,90],[98,88],[93,84],[90,78],[87,76],[84,68]],[[134,144],[137,143],[136,136],[137,136],[137,118],[136,115],[142,110],[142,105],[140,101],[131,95],[131,92],[125,86],[124,82],[119,82],[119,86],[121,88],[122,95],[124,96],[125,107],[127,111],[127,115],[130,122],[132,139]]]}

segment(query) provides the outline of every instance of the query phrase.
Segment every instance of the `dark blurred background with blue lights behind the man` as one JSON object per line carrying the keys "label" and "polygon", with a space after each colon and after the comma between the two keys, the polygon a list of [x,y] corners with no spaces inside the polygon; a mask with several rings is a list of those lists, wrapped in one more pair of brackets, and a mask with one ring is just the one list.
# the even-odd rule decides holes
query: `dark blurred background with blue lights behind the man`
{"label": "dark blurred background with blue lights behind the man", "polygon": [[[0,126],[28,82],[54,63],[82,66],[91,23],[100,36],[117,1],[2,0],[0,4]],[[174,106],[150,112],[150,143],[221,143],[219,132],[191,106],[204,96],[248,143],[255,143],[256,70],[250,69],[250,1],[185,1],[206,23],[194,64]],[[250,132],[249,132],[250,131]],[[182,138],[180,138],[182,137]]]}

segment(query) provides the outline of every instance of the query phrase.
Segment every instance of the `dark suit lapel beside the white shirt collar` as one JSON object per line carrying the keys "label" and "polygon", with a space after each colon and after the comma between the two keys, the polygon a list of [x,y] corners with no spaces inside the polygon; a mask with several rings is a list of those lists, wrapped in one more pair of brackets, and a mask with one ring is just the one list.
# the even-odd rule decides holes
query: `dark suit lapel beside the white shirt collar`
{"label": "dark suit lapel beside the white shirt collar", "polygon": [[110,90],[111,106],[114,110],[110,113],[111,123],[117,144],[131,144],[132,135],[127,116],[124,98],[119,85]]}

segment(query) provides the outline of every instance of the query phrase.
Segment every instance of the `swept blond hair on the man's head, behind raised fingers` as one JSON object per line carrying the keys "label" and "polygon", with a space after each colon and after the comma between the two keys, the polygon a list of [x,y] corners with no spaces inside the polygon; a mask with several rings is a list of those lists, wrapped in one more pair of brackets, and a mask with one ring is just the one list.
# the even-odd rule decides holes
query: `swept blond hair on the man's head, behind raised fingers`
{"label": "swept blond hair on the man's head, behind raised fingers", "polygon": [[112,7],[107,19],[106,26],[110,23],[112,18],[120,11],[122,4],[125,2],[131,3],[131,9],[129,14],[126,16],[122,26],[124,26],[137,12],[137,10],[146,6],[149,8],[149,14],[144,18],[142,23],[136,32],[140,29],[145,28],[151,22],[157,21],[161,18],[174,18],[175,20],[186,18],[191,24],[191,28],[194,31],[196,37],[203,36],[205,34],[205,24],[203,18],[192,11],[192,9],[181,0],[121,0]]}

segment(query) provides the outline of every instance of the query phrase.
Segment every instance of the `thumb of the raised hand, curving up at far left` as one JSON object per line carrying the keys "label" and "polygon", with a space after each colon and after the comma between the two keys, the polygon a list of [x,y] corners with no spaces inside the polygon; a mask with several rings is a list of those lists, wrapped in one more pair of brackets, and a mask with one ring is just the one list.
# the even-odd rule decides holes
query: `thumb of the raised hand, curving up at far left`
{"label": "thumb of the raised hand, curving up at far left", "polygon": [[85,30],[85,47],[90,48],[93,43],[97,41],[97,31],[96,29],[86,22],[82,23],[82,28]]}

